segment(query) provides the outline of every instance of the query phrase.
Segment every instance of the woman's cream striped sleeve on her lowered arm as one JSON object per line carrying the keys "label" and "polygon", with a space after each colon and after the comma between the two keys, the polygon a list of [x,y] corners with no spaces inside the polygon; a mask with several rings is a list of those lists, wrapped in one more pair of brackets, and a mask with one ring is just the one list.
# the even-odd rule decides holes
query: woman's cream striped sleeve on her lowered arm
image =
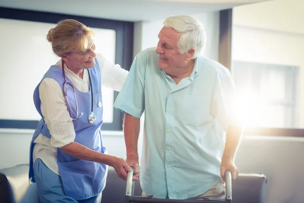
{"label": "woman's cream striped sleeve on her lowered arm", "polygon": [[45,78],[39,86],[41,112],[51,133],[51,145],[61,148],[75,139],[75,130],[60,85]]}

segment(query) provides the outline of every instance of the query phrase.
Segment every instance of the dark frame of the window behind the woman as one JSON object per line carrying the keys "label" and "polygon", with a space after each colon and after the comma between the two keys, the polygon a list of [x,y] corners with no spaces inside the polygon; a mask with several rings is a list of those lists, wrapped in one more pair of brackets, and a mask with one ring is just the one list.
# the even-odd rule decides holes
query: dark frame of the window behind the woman
{"label": "dark frame of the window behind the woman", "polygon": [[[85,16],[57,14],[49,12],[39,12],[21,9],[10,9],[0,7],[0,18],[24,20],[33,22],[45,22],[56,24],[62,19],[75,19],[89,27],[112,29],[116,31],[116,53],[115,63],[118,63],[130,70],[133,61],[133,28],[134,22],[109,20],[101,18],[92,18]],[[114,101],[119,92],[114,92]],[[118,109],[113,108],[113,122],[103,123],[101,130],[122,130],[124,114]],[[36,129],[39,121],[36,120],[5,120],[0,119],[0,128],[17,128],[17,129]]]}

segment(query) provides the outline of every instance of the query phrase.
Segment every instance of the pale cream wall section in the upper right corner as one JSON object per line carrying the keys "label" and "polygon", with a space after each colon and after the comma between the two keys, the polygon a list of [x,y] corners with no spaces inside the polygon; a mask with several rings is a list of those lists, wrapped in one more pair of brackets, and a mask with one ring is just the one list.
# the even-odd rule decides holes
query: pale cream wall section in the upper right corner
{"label": "pale cream wall section in the upper right corner", "polygon": [[304,1],[272,0],[233,9],[233,23],[282,32],[304,33]]}

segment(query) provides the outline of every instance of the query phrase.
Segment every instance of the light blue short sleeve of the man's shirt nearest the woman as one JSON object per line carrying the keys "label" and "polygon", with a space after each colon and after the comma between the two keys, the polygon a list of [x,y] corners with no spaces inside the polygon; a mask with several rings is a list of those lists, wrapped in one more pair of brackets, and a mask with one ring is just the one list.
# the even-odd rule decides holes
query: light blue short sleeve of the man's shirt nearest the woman
{"label": "light blue short sleeve of the man's shirt nearest the woman", "polygon": [[144,111],[145,63],[135,57],[126,82],[118,94],[114,107],[124,113],[140,118]]}

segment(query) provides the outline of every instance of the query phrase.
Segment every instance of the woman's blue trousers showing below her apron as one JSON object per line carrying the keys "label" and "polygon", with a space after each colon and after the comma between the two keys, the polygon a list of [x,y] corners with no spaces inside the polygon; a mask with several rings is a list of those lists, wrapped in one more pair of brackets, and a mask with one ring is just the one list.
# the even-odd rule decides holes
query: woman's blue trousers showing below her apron
{"label": "woman's blue trousers showing below her apron", "polygon": [[55,174],[46,164],[37,158],[34,163],[34,177],[41,203],[100,203],[101,193],[97,196],[75,200],[65,195],[61,177]]}

